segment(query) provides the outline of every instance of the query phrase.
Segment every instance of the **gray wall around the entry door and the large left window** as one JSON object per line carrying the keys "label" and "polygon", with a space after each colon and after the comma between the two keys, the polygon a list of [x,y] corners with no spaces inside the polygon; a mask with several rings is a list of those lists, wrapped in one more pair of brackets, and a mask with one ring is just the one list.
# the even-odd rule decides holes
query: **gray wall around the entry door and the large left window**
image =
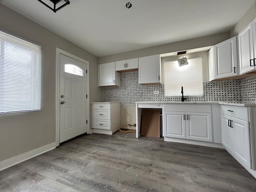
{"label": "gray wall around the entry door and the large left window", "polygon": [[103,100],[97,57],[0,4],[0,29],[42,45],[42,110],[0,115],[0,161],[55,142],[56,47],[90,62],[90,102]]}

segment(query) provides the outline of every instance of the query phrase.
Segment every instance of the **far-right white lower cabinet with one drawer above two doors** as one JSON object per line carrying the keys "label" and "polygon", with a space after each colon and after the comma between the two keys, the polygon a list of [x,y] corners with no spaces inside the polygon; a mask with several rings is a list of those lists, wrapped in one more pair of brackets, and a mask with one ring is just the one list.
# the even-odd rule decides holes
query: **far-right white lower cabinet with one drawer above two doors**
{"label": "far-right white lower cabinet with one drawer above two doors", "polygon": [[[250,127],[247,119],[238,119],[234,116],[241,114],[241,107],[232,107],[229,111],[222,108],[222,144],[226,150],[244,166],[251,168]],[[246,110],[246,108],[242,108]],[[233,113],[233,116],[226,115]],[[243,113],[244,114],[244,113]]]}

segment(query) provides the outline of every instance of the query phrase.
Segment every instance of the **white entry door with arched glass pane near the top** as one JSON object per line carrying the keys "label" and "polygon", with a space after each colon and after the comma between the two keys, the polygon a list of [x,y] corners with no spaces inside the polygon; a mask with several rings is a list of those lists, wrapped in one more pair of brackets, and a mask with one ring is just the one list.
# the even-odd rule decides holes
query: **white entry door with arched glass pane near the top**
{"label": "white entry door with arched glass pane near the top", "polygon": [[86,64],[60,54],[60,143],[87,132]]}

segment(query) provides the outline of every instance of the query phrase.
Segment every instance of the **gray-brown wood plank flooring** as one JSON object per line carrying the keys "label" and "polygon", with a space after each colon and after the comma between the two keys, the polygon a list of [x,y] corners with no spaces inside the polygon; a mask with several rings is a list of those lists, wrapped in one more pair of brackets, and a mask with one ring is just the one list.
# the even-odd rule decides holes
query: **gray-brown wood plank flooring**
{"label": "gray-brown wood plank flooring", "polygon": [[255,192],[256,179],[226,150],[85,135],[0,172],[0,192]]}

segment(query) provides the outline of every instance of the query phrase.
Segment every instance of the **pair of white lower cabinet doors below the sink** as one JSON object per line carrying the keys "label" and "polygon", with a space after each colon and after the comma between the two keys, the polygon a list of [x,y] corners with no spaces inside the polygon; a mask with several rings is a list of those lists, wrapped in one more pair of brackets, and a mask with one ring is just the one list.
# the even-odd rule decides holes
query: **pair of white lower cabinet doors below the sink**
{"label": "pair of white lower cabinet doors below the sink", "polygon": [[164,111],[164,119],[165,137],[212,142],[210,112]]}

